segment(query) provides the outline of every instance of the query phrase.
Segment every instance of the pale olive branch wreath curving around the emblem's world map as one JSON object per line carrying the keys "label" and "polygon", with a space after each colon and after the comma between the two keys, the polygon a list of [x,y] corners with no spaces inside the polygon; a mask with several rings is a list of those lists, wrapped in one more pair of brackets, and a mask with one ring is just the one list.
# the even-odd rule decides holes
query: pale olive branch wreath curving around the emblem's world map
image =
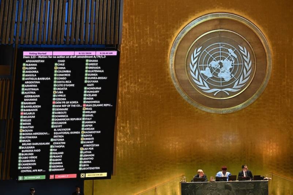
{"label": "pale olive branch wreath curving around the emblem's world map", "polygon": [[245,47],[241,47],[238,45],[240,48],[240,52],[243,54],[242,57],[244,59],[244,69],[243,69],[243,74],[240,76],[240,79],[238,79],[234,86],[232,88],[224,88],[224,89],[211,89],[207,82],[205,80],[202,80],[202,78],[198,74],[198,69],[197,69],[197,59],[198,55],[200,54],[200,49],[202,47],[199,47],[198,49],[195,48],[193,54],[191,54],[191,59],[190,59],[190,73],[191,76],[193,77],[193,81],[196,83],[197,87],[201,88],[203,92],[205,93],[214,93],[214,95],[217,95],[220,91],[225,92],[227,95],[230,95],[229,92],[236,92],[241,90],[241,87],[243,87],[246,84],[246,81],[248,81],[250,74],[251,74],[251,60],[250,60],[250,54],[246,50]]}

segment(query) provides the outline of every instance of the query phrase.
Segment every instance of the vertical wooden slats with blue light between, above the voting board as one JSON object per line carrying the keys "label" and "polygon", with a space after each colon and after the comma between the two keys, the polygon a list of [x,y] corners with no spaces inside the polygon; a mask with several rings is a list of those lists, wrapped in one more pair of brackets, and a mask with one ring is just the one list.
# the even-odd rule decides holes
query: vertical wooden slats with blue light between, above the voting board
{"label": "vertical wooden slats with blue light between, above the voting board", "polygon": [[118,45],[120,1],[0,0],[0,44]]}

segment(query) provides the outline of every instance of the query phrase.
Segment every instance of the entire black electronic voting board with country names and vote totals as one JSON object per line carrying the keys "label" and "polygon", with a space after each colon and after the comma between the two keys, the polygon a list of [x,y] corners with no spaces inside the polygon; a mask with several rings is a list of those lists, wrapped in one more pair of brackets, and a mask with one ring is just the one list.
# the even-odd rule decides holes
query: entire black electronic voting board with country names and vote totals
{"label": "entire black electronic voting board with country names and vote totals", "polygon": [[110,179],[119,51],[18,49],[11,175]]}

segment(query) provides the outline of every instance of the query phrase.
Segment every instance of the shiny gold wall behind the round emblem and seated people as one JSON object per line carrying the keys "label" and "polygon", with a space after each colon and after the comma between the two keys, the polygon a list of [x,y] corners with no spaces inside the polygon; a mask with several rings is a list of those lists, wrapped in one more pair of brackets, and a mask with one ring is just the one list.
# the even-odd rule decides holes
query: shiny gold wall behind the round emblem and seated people
{"label": "shiny gold wall behind the round emblem and seated people", "polygon": [[[263,94],[243,110],[211,114],[188,104],[169,73],[180,30],[207,13],[242,16],[258,26],[272,52]],[[293,3],[288,0],[124,1],[117,119],[116,175],[85,182],[89,194],[137,194],[197,169],[208,178],[222,165],[237,175],[292,179]],[[179,194],[179,184],[165,194]]]}

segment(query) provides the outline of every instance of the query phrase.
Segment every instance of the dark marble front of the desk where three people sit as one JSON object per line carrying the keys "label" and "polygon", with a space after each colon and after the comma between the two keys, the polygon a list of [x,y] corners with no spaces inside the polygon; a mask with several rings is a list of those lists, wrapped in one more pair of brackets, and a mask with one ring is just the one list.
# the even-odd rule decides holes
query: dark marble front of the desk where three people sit
{"label": "dark marble front of the desk where three people sit", "polygon": [[268,195],[268,181],[184,182],[182,195]]}

